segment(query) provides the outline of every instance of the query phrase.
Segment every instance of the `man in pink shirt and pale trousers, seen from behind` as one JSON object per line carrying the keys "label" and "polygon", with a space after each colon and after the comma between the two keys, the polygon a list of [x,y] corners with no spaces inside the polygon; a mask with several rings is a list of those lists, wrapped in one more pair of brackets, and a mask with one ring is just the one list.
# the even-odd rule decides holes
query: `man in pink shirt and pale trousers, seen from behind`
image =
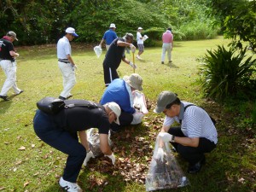
{"label": "man in pink shirt and pale trousers, seen from behind", "polygon": [[163,40],[163,46],[162,46],[162,57],[161,57],[161,63],[165,63],[165,58],[166,58],[166,51],[168,54],[168,60],[169,62],[172,62],[172,45],[173,45],[173,35],[172,35],[172,28],[168,27],[166,32],[163,33],[162,35],[162,40]]}

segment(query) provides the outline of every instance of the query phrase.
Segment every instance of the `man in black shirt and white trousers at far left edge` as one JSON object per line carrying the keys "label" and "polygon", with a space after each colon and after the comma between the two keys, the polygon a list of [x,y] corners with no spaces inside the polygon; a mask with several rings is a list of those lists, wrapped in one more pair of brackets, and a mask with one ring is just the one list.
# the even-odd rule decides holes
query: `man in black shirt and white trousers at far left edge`
{"label": "man in black shirt and white trousers at far left edge", "polygon": [[0,66],[6,75],[6,80],[0,92],[0,98],[4,101],[9,101],[7,93],[11,88],[15,90],[16,95],[20,95],[20,93],[23,92],[23,90],[20,90],[16,84],[16,57],[18,57],[19,54],[15,52],[13,44],[15,40],[18,41],[15,32],[7,32],[6,36],[3,36],[3,38],[0,39]]}

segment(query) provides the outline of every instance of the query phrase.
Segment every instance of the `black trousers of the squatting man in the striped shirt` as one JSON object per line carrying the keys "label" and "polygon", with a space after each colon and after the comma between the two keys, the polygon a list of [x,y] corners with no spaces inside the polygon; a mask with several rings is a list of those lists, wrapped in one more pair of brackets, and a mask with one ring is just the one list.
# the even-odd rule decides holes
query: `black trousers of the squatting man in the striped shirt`
{"label": "black trousers of the squatting man in the striped shirt", "polygon": [[[168,133],[177,137],[186,137],[183,135],[181,127],[172,127],[169,129]],[[194,165],[204,157],[205,153],[209,153],[216,148],[215,143],[204,137],[200,137],[199,145],[196,148],[183,146],[179,143],[172,143],[172,146],[176,148],[177,153],[181,154],[185,160],[189,161],[190,165]]]}

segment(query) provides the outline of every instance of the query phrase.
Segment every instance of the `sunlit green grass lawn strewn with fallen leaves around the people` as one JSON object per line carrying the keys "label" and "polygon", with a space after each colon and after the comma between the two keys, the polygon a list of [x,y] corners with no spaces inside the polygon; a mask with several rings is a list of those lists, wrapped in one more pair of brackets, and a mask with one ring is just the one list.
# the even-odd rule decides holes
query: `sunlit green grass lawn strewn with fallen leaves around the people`
{"label": "sunlit green grass lawn strewn with fallen leaves around the people", "polygon": [[[252,109],[252,103],[239,103],[232,107],[202,99],[197,84],[199,63],[196,61],[207,49],[217,44],[228,44],[222,37],[212,40],[175,42],[172,65],[160,64],[161,48],[148,48],[137,61],[136,73],[143,77],[143,93],[151,106],[141,125],[129,126],[112,136],[113,152],[117,158],[115,167],[108,159],[90,160],[79,175],[79,185],[84,191],[145,191],[144,181],[131,170],[143,166],[140,172],[146,175],[152,157],[152,149],[160,131],[163,115],[153,113],[154,103],[162,90],[176,92],[184,101],[204,106],[218,120],[218,147],[207,154],[207,165],[201,172],[189,175],[188,187],[172,191],[255,191],[256,149],[255,132],[241,127],[239,116]],[[104,88],[102,61],[103,51],[97,58],[93,49],[81,44],[72,44],[73,60],[78,66],[77,84],[73,99],[98,102]],[[58,180],[65,166],[66,154],[38,140],[32,127],[36,102],[44,96],[59,96],[62,77],[57,66],[55,45],[19,47],[17,60],[17,84],[24,90],[20,96],[11,96],[11,101],[0,101],[0,191],[61,191]],[[126,55],[132,60],[132,55]],[[133,70],[124,62],[118,69],[120,78]],[[5,76],[0,70],[0,84]],[[238,109],[236,111],[236,109]],[[237,128],[238,127],[238,128]],[[237,128],[237,129],[236,129]],[[134,151],[133,148],[142,148]],[[124,166],[125,159],[131,167]],[[177,160],[186,172],[187,163]],[[127,175],[131,175],[127,179]],[[126,175],[126,176],[125,176]]]}

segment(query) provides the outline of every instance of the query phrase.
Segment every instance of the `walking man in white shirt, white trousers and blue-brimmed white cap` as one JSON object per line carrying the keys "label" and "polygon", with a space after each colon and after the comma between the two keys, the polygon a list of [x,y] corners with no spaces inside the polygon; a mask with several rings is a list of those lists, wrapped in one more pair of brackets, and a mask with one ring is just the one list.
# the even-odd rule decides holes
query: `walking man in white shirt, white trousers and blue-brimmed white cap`
{"label": "walking man in white shirt, white trousers and blue-brimmed white cap", "polygon": [[65,36],[57,43],[58,65],[63,77],[63,90],[59,96],[59,99],[61,100],[66,100],[73,96],[70,91],[76,84],[76,76],[74,72],[76,65],[71,56],[71,45],[69,42],[77,37],[79,37],[79,35],[75,32],[74,28],[68,27]]}

